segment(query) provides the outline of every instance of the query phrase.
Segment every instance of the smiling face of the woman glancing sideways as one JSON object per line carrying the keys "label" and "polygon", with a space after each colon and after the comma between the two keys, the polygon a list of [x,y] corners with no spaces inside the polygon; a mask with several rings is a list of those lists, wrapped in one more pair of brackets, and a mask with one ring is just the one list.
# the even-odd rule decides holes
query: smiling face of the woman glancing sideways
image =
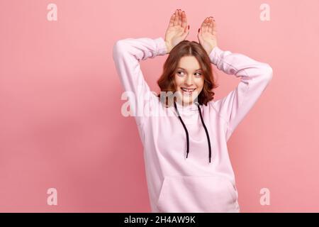
{"label": "smiling face of the woman glancing sideways", "polygon": [[176,92],[184,105],[192,104],[201,93],[204,77],[201,65],[194,56],[184,56],[179,60],[177,72],[174,74]]}

